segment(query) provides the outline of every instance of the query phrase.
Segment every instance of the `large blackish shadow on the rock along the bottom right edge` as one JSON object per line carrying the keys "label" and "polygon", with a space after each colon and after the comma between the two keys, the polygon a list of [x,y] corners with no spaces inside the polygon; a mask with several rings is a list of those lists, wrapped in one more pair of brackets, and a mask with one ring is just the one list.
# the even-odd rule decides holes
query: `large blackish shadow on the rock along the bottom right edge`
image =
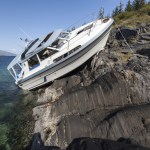
{"label": "large blackish shadow on the rock along the bottom right edge", "polygon": [[66,150],[148,150],[149,148],[97,138],[78,138]]}

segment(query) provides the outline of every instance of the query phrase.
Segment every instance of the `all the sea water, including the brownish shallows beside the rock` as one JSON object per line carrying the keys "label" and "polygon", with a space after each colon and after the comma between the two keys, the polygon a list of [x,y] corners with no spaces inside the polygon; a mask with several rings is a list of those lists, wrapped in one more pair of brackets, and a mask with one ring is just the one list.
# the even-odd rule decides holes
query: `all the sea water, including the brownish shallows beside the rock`
{"label": "all the sea water, including the brownish shallows beside the rock", "polygon": [[7,71],[14,57],[0,56],[0,150],[25,150],[32,138],[34,92],[23,91]]}

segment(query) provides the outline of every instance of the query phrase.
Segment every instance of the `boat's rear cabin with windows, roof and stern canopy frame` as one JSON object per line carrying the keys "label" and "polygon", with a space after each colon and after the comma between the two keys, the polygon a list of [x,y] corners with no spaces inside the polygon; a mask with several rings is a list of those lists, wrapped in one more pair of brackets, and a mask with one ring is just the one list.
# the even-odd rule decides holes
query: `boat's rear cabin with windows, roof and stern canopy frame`
{"label": "boat's rear cabin with windows, roof and stern canopy frame", "polygon": [[69,38],[69,34],[69,32],[56,30],[29,43],[24,52],[15,57],[7,67],[16,82],[23,78],[24,72],[34,70],[44,64],[44,60],[59,52],[59,48],[64,45],[63,41]]}

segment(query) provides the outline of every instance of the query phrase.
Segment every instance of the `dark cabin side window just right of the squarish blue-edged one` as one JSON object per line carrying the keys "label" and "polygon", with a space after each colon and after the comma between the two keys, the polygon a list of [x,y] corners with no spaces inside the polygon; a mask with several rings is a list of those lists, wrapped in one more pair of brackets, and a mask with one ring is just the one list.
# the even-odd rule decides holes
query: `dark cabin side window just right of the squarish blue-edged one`
{"label": "dark cabin side window just right of the squarish blue-edged one", "polygon": [[40,60],[42,61],[55,53],[57,53],[57,51],[46,48],[46,49],[42,50],[41,52],[39,52],[38,56],[39,56]]}

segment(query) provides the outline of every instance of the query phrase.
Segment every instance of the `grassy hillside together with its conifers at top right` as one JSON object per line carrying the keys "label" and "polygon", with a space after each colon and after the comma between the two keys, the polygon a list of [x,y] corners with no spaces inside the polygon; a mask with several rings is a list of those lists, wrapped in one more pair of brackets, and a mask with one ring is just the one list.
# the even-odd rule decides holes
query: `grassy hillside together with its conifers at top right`
{"label": "grassy hillside together with its conifers at top right", "polygon": [[112,16],[119,25],[135,27],[139,23],[150,22],[150,3],[145,0],[134,0],[132,3],[128,0],[125,9],[122,9],[122,3],[117,6]]}

